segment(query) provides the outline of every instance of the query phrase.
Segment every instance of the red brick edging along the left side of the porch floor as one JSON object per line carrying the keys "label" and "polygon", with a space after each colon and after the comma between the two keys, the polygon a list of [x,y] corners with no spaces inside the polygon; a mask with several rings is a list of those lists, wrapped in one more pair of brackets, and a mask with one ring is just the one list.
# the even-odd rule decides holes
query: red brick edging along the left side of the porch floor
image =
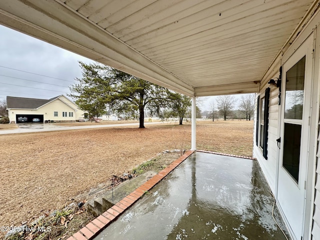
{"label": "red brick edging along the left side of the porch floor", "polygon": [[123,197],[118,203],[107,209],[101,215],[87,223],[80,230],[75,232],[72,236],[66,240],[90,240],[98,233],[100,233],[106,226],[108,226],[115,218],[120,216],[126,209],[128,209],[134,202],[136,202],[145,191],[150,190],[156,183],[162,180],[167,174],[169,174],[175,167],[177,167],[182,161],[184,161],[194,151],[188,150],[178,159],[171,162],[170,165],[159,171],[152,178],[140,185],[134,191],[127,196]]}

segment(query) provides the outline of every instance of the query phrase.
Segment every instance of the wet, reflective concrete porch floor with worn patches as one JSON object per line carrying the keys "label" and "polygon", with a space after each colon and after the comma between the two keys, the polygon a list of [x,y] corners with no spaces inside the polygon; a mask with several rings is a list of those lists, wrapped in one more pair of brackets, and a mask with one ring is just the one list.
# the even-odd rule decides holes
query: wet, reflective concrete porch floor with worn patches
{"label": "wet, reflective concrete porch floor with worn patches", "polygon": [[286,239],[272,206],[255,160],[195,152],[95,239]]}

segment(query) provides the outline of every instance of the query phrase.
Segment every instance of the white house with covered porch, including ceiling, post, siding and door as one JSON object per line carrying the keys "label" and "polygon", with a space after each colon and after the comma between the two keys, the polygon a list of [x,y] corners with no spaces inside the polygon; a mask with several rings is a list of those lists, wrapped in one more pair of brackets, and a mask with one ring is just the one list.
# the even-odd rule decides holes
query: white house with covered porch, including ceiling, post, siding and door
{"label": "white house with covered porch, including ceiling, post, siding and door", "polygon": [[0,23],[191,96],[192,149],[195,97],[256,93],[253,155],[291,238],[320,239],[319,5],[1,0]]}

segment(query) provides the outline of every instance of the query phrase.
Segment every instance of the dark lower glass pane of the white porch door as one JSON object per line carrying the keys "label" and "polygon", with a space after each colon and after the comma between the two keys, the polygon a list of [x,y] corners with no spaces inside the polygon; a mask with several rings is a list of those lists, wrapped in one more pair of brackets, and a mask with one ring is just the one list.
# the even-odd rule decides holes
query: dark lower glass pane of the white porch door
{"label": "dark lower glass pane of the white porch door", "polygon": [[284,123],[283,167],[298,181],[301,125]]}

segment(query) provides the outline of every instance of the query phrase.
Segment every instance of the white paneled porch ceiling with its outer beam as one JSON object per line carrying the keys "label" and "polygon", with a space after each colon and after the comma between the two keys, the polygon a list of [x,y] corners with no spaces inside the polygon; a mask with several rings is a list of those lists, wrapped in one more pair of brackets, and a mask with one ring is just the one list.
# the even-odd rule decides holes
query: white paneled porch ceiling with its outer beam
{"label": "white paneled porch ceiling with its outer beam", "polygon": [[1,0],[0,24],[187,95],[256,92],[318,0]]}

